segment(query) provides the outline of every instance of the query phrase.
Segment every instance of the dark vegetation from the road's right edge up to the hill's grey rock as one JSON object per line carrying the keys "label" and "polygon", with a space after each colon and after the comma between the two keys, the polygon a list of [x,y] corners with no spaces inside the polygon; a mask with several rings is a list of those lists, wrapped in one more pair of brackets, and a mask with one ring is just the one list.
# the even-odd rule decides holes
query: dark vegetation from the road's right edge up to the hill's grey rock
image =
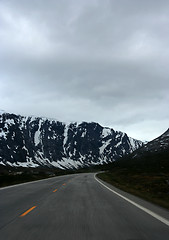
{"label": "dark vegetation from the road's right edge up to the hill's grey rock", "polygon": [[106,170],[97,175],[103,181],[169,209],[169,150],[130,155]]}

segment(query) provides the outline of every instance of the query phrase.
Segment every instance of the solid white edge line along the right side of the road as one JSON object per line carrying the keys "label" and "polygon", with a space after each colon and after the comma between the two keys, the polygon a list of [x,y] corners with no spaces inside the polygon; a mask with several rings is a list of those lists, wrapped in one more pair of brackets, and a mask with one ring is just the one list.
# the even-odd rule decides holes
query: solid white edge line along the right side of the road
{"label": "solid white edge line along the right side of the road", "polygon": [[110,190],[111,192],[115,193],[117,196],[123,198],[124,200],[126,200],[127,202],[133,204],[134,206],[136,206],[137,208],[143,210],[144,212],[148,213],[149,215],[151,215],[152,217],[156,218],[157,220],[159,220],[160,222],[164,223],[165,225],[169,226],[169,221],[166,218],[161,217],[160,215],[152,212],[151,210],[133,202],[132,200],[130,200],[129,198],[124,197],[123,195],[119,194],[118,192],[112,190],[111,188],[107,187],[105,184],[103,184],[101,181],[99,181],[96,178],[96,174],[94,175],[94,178],[97,182],[99,182],[101,185],[103,185],[105,188],[107,188],[108,190]]}

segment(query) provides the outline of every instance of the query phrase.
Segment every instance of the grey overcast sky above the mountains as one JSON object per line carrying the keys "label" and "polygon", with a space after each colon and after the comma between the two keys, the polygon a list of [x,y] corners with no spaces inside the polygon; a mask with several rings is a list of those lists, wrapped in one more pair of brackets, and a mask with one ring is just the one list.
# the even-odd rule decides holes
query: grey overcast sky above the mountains
{"label": "grey overcast sky above the mountains", "polygon": [[0,0],[0,109],[161,135],[169,1]]}

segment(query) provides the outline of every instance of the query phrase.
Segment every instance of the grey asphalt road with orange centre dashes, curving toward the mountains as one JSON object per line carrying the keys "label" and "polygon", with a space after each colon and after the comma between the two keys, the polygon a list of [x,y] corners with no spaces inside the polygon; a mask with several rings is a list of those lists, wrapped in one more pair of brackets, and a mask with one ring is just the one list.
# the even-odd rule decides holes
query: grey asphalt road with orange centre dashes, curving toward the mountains
{"label": "grey asphalt road with orange centre dashes, curving toward the mountains", "polygon": [[84,173],[1,189],[0,239],[169,240],[167,210],[110,188]]}

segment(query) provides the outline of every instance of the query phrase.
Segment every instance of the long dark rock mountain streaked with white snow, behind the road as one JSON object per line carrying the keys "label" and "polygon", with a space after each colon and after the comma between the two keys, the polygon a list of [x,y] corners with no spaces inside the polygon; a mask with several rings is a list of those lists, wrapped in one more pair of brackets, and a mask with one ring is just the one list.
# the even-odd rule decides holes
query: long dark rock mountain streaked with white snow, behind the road
{"label": "long dark rock mountain streaked with white snow, behind the road", "polygon": [[126,133],[98,123],[0,112],[0,164],[13,167],[79,168],[113,162],[142,146]]}

